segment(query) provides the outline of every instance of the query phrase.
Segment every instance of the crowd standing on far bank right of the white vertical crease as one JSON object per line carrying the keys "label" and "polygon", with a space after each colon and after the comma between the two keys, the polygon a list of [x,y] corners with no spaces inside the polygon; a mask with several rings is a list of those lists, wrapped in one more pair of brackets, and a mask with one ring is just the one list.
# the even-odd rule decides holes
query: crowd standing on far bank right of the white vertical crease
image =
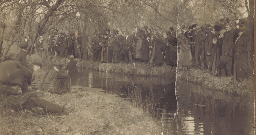
{"label": "crowd standing on far bank right of the white vertical crease", "polygon": [[[184,30],[178,27],[178,63],[209,71],[214,76],[248,78],[253,71],[249,59],[253,57],[253,31],[244,19],[222,19],[214,26],[194,24]],[[251,72],[251,73],[250,73]]]}

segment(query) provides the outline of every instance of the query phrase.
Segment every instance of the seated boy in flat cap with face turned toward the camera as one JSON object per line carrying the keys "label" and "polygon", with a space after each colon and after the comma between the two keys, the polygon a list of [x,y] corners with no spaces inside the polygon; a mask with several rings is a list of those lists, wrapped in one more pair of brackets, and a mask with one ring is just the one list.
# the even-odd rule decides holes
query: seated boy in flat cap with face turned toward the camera
{"label": "seated boy in flat cap with face turned toward the camera", "polygon": [[34,72],[32,74],[32,79],[31,79],[31,88],[41,90],[46,77],[46,72],[44,72],[41,69],[42,68],[41,62],[34,61],[32,65],[33,65]]}

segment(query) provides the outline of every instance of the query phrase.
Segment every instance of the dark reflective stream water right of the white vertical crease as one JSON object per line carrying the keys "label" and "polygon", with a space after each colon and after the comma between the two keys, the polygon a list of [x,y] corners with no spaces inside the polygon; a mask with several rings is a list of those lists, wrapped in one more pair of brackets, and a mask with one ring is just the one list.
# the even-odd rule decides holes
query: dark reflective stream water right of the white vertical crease
{"label": "dark reflective stream water right of the white vertical crease", "polygon": [[235,97],[200,85],[177,84],[177,134],[247,135],[253,127],[253,98]]}

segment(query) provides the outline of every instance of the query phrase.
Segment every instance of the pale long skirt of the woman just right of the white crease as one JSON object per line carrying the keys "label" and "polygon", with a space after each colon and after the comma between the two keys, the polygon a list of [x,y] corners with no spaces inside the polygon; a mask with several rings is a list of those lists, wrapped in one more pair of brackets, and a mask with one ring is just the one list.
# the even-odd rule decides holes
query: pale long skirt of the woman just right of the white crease
{"label": "pale long skirt of the woman just right of the white crease", "polygon": [[191,56],[191,51],[190,48],[187,50],[180,50],[180,61],[179,64],[182,66],[189,66],[192,64],[192,56]]}

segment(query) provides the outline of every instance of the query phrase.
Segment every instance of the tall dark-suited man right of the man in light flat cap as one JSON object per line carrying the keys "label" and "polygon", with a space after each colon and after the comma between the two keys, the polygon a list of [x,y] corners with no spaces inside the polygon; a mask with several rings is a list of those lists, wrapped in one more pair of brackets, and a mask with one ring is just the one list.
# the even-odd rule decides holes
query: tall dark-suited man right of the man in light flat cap
{"label": "tall dark-suited man right of the man in light flat cap", "polygon": [[[226,25],[226,36],[223,39],[223,43],[222,43],[222,56],[225,55],[226,57],[228,57],[229,61],[226,64],[226,67],[223,68],[222,70],[227,71],[227,75],[231,76],[232,75],[232,65],[233,65],[233,49],[234,49],[234,42],[235,42],[235,38],[236,38],[236,34],[235,34],[235,29],[232,29],[231,25]],[[222,73],[225,73],[224,71]]]}

